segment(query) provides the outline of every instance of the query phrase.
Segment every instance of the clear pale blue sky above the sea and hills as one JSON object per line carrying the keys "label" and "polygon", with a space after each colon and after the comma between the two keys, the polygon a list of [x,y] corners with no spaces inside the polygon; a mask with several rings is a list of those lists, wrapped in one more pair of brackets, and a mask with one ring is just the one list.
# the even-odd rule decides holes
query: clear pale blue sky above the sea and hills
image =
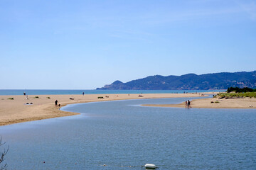
{"label": "clear pale blue sky above the sea and hills", "polygon": [[0,89],[255,66],[255,0],[0,0]]}

